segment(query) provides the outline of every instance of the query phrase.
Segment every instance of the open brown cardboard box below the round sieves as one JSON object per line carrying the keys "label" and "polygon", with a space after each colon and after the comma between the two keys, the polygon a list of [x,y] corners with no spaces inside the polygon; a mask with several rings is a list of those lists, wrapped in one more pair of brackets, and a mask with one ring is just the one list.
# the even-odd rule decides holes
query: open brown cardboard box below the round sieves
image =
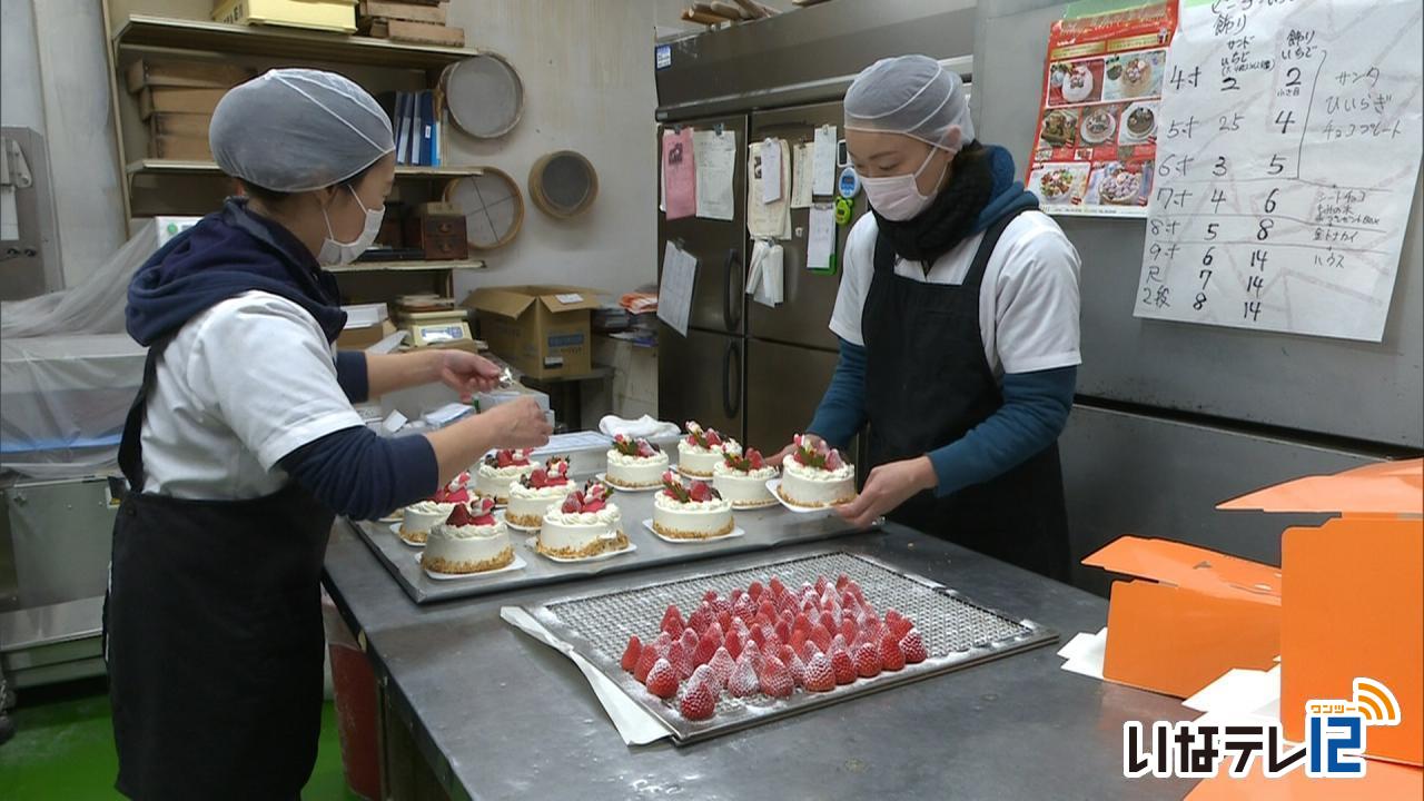
{"label": "open brown cardboard box below the round sieves", "polygon": [[592,371],[591,309],[598,291],[582,286],[525,285],[476,289],[464,305],[476,309],[490,351],[534,378]]}

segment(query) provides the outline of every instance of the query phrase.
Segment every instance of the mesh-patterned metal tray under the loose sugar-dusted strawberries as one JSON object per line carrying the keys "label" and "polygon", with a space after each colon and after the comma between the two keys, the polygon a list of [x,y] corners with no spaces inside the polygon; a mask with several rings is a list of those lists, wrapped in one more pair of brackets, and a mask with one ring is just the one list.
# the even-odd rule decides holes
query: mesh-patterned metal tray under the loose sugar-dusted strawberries
{"label": "mesh-patterned metal tray under the loose sugar-dusted strawberries", "polygon": [[[857,678],[829,693],[796,690],[790,698],[772,700],[722,697],[716,714],[706,721],[685,720],[676,700],[662,701],[649,694],[618,661],[628,637],[646,639],[655,633],[669,603],[685,613],[696,609],[702,594],[712,589],[721,594],[746,587],[752,580],[766,582],[780,576],[787,586],[815,582],[817,576],[839,574],[854,579],[866,600],[876,609],[897,609],[920,629],[930,658],[873,678]],[[672,733],[676,744],[696,743],[782,717],[877,693],[910,681],[960,670],[971,664],[1005,657],[1054,643],[1058,636],[1034,623],[980,606],[956,590],[923,576],[907,573],[877,559],[846,552],[769,562],[759,567],[703,573],[675,582],[642,584],[627,590],[574,596],[525,609],[551,634],[574,647],[584,658],[609,677],[629,698],[652,713]],[[635,627],[635,629],[634,629]]]}

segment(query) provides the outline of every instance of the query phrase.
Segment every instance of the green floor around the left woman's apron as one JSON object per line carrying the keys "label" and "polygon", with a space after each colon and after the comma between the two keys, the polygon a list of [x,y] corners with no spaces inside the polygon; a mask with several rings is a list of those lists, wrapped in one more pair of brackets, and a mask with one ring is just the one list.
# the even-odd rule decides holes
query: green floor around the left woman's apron
{"label": "green floor around the left woman's apron", "polygon": [[[103,683],[20,693],[11,711],[14,740],[0,745],[0,798],[14,801],[90,801],[122,798],[114,791],[118,760]],[[302,791],[305,801],[349,801],[342,777],[336,711],[322,710],[322,744],[316,770]]]}

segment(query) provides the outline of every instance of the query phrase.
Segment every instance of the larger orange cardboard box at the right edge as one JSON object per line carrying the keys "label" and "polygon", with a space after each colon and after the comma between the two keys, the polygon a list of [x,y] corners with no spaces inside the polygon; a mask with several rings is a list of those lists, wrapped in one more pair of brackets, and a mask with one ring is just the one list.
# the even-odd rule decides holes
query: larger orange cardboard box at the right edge
{"label": "larger orange cardboard box at the right edge", "polygon": [[1307,476],[1220,509],[1343,515],[1282,537],[1284,734],[1303,740],[1306,703],[1351,700],[1366,677],[1398,704],[1397,724],[1368,727],[1366,754],[1424,764],[1424,460]]}

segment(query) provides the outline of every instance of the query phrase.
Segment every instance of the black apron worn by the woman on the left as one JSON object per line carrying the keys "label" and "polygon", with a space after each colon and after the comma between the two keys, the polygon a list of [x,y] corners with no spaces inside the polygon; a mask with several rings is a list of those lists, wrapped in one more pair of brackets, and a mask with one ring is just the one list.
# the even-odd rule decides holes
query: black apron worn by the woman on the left
{"label": "black apron worn by the woman on the left", "polygon": [[128,412],[104,601],[117,788],[298,798],[322,715],[320,572],[333,513],[298,485],[253,500],[144,495],[155,362]]}

